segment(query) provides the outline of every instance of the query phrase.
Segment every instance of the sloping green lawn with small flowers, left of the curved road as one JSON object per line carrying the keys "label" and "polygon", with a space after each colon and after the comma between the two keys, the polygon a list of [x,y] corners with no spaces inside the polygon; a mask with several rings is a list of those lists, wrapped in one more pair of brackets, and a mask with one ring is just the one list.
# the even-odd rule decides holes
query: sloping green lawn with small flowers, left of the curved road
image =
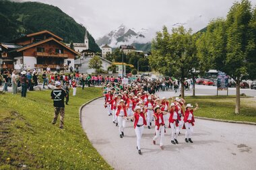
{"label": "sloping green lawn with small flowers, left of the curved road", "polygon": [[32,91],[26,98],[0,94],[0,169],[112,169],[79,124],[79,107],[102,90],[77,88],[77,96],[70,96],[65,108],[63,130],[59,118],[51,124],[50,93]]}

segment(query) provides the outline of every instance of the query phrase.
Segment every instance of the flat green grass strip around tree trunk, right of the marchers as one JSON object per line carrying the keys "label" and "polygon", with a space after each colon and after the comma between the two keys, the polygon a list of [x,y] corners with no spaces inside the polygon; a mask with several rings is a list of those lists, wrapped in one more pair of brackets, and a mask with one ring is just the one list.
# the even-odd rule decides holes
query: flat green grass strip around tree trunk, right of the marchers
{"label": "flat green grass strip around tree trunk, right of the marchers", "polygon": [[234,114],[235,96],[196,96],[186,97],[186,103],[199,104],[195,116],[256,122],[256,98],[241,97],[241,114]]}

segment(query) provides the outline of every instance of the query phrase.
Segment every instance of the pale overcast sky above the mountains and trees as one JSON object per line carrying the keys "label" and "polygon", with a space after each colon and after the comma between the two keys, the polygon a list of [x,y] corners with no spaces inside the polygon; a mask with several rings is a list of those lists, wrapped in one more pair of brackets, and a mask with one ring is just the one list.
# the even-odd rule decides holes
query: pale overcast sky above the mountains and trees
{"label": "pale overcast sky above the mountains and trees", "polygon": [[[26,0],[25,0],[26,1]],[[30,0],[31,1],[31,0]],[[55,5],[79,24],[88,28],[94,38],[104,36],[121,24],[128,28],[147,28],[151,35],[166,25],[183,23],[194,32],[204,28],[210,19],[225,17],[234,0],[32,0]],[[251,0],[253,5],[256,0]]]}

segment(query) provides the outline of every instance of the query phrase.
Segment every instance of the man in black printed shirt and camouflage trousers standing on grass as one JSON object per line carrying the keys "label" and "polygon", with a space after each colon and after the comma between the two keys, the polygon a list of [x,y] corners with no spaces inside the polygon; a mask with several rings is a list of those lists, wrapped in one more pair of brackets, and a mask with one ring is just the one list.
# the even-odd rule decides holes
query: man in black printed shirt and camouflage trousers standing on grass
{"label": "man in black printed shirt and camouflage trousers standing on grass", "polygon": [[53,124],[56,124],[57,118],[60,114],[59,128],[63,129],[64,115],[65,115],[65,104],[64,98],[67,97],[67,93],[61,89],[61,82],[56,81],[55,86],[57,87],[51,92],[51,98],[53,99],[53,106],[55,108],[55,116],[53,118]]}

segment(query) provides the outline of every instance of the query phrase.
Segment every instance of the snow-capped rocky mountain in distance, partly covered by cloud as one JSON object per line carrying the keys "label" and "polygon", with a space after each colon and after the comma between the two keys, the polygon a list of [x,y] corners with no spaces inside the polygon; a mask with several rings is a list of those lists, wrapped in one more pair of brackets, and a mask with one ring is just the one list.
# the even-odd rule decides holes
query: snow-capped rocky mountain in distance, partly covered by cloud
{"label": "snow-capped rocky mountain in distance, partly covered by cloud", "polygon": [[136,30],[135,28],[127,28],[122,24],[117,30],[113,30],[102,38],[96,40],[96,43],[98,46],[108,44],[112,48],[117,48],[123,44],[146,44],[151,42],[148,33],[148,29],[142,28]]}

